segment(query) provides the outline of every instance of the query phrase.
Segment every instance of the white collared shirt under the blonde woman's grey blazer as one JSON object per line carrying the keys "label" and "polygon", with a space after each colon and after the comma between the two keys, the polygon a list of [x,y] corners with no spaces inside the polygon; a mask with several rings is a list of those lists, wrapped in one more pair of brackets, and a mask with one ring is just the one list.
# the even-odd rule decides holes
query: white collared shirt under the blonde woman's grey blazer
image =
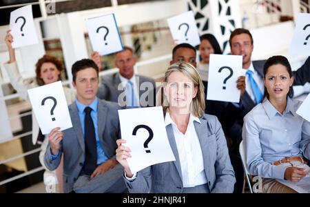
{"label": "white collared shirt under the blonde woman's grey blazer", "polygon": [[180,158],[180,167],[182,171],[183,187],[189,188],[207,183],[205,177],[205,166],[203,164],[203,152],[201,151],[198,135],[194,127],[194,121],[201,124],[198,117],[189,116],[189,124],[185,135],[171,119],[169,112],[165,116],[165,126],[172,124],[178,157]]}

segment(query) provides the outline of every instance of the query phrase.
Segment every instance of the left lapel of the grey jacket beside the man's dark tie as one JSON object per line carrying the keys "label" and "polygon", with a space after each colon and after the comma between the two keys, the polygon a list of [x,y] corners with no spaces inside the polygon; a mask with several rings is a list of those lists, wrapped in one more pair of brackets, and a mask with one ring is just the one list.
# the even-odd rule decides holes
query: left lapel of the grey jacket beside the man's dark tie
{"label": "left lapel of the grey jacket beside the man's dark tie", "polygon": [[79,144],[83,150],[83,152],[85,152],[85,141],[83,138],[83,132],[82,132],[82,128],[81,128],[81,121],[79,119],[79,112],[77,110],[76,107],[76,103],[73,102],[71,104],[71,107],[69,107],[70,110],[70,116],[72,117],[72,126],[74,128],[76,137],[79,141]]}

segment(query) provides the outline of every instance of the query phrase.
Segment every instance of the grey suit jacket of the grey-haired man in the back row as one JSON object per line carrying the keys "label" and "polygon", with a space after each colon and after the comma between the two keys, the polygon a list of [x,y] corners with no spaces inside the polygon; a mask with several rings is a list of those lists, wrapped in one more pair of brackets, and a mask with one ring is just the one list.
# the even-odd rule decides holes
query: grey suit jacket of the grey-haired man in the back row
{"label": "grey suit jacket of the grey-haired man in the back row", "polygon": [[[154,92],[151,91],[155,88],[154,80],[141,75],[136,75],[135,77],[139,87],[140,106],[153,106],[155,95]],[[123,99],[123,97],[125,97],[125,88],[123,88],[121,84],[118,72],[112,75],[106,75],[101,79],[97,97],[99,97],[99,99],[116,102],[119,106],[125,108],[126,102]],[[120,99],[118,99],[118,97],[120,97]]]}

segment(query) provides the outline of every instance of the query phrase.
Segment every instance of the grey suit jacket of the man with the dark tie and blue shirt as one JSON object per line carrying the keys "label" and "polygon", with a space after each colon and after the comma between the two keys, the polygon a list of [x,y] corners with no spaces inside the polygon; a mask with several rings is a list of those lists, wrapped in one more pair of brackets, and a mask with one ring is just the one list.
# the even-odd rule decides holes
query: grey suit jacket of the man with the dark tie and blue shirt
{"label": "grey suit jacket of the man with the dark tie and blue shirt", "polygon": [[[116,103],[98,100],[99,141],[109,159],[115,158],[116,139],[121,138],[118,109]],[[85,161],[85,141],[75,102],[69,106],[69,112],[73,127],[63,130],[64,137],[61,141],[61,153],[63,153],[64,159],[63,190],[65,193],[72,191],[74,182],[79,177]],[[48,145],[44,155],[44,163],[49,170],[55,170],[60,164],[61,156],[55,160],[51,158],[50,145]]]}

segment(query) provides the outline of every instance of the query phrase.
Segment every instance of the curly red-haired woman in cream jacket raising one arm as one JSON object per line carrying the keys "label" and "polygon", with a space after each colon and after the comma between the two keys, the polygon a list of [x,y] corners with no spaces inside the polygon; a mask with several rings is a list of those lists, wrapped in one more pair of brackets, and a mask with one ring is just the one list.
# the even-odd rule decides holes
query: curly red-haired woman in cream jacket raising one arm
{"label": "curly red-haired woman in cream jacket raising one arm", "polygon": [[[30,88],[35,88],[38,86],[43,86],[48,83],[54,83],[55,81],[61,80],[61,71],[63,70],[63,64],[61,61],[56,59],[56,57],[44,55],[39,59],[36,63],[36,81],[29,83],[25,81],[21,74],[19,73],[19,68],[17,66],[16,58],[15,58],[15,50],[12,48],[13,37],[10,34],[10,30],[7,31],[5,37],[6,45],[8,46],[8,52],[10,55],[10,60],[4,63],[4,68],[6,68],[6,72],[8,73],[8,77],[10,78],[10,83],[14,87],[15,90],[21,95],[21,97],[25,100],[29,101],[27,90]],[[65,92],[65,98],[67,99],[67,103],[70,104],[75,100],[76,94],[75,90],[72,90],[68,87],[63,87]],[[37,119],[34,117],[32,113],[32,144],[37,144],[39,135],[39,124]],[[39,155],[39,160],[41,165],[45,168],[44,178],[45,177],[54,177],[52,180],[56,181],[59,186],[59,193],[63,192],[62,187],[62,174],[63,174],[63,166],[59,166],[56,170],[57,178],[55,177],[55,172],[50,172],[48,168],[44,165],[43,156],[45,153],[46,146],[48,144],[48,139],[44,139],[41,144],[41,152]]]}

